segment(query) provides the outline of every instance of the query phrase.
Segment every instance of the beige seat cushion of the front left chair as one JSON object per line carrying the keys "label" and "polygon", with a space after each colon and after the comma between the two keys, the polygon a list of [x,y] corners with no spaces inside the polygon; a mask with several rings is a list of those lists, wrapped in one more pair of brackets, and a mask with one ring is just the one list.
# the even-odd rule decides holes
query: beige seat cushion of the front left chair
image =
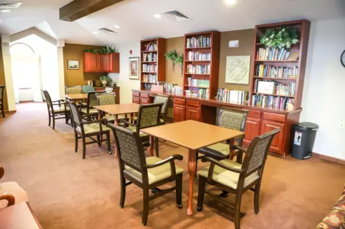
{"label": "beige seat cushion of the front left chair", "polygon": [[[155,164],[161,161],[162,159],[159,157],[146,157],[146,164]],[[175,168],[176,168],[176,174],[180,174],[184,172],[184,169],[180,168],[179,166],[175,166]],[[139,182],[142,182],[141,173],[136,171],[135,169],[130,168],[129,166],[125,166],[124,173],[126,173],[127,175],[130,175],[131,177],[134,177]],[[170,163],[163,164],[156,168],[148,168],[148,184],[160,182],[161,180],[164,180],[170,176],[171,176]]]}

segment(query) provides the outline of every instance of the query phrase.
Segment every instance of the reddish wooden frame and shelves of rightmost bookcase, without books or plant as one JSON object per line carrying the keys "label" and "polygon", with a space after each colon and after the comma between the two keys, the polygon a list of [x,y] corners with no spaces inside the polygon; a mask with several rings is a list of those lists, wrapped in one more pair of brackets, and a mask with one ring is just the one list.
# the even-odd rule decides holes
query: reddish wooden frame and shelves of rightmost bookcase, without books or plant
{"label": "reddish wooden frame and shelves of rightmost bookcase, without books or plant", "polygon": [[[259,60],[258,52],[260,48],[266,49],[265,45],[260,43],[260,39],[264,36],[266,30],[273,30],[277,28],[296,28],[297,33],[299,35],[299,42],[297,44],[291,45],[289,52],[296,52],[299,54],[299,58],[297,60],[284,60],[284,61],[261,61]],[[309,41],[309,33],[311,29],[310,21],[300,20],[300,21],[286,21],[282,23],[270,23],[265,25],[256,25],[255,26],[255,39],[254,39],[254,50],[253,56],[254,59],[251,65],[251,78],[250,78],[250,104],[253,104],[253,100],[255,95],[262,95],[262,96],[274,96],[273,98],[287,98],[293,99],[293,109],[299,109],[302,103],[302,93],[303,93],[303,86],[304,86],[304,74],[306,71],[306,56],[308,52],[308,41]],[[272,67],[297,67],[297,74],[296,76],[290,77],[287,76],[286,78],[272,78],[272,77],[261,77],[257,76],[257,66],[259,65],[269,65]],[[266,72],[267,73],[267,72]],[[270,80],[276,83],[282,83],[284,85],[288,85],[289,83],[295,83],[295,93],[280,96],[277,94],[259,94],[255,91],[255,80]],[[271,108],[271,109],[279,109],[279,107],[267,107],[264,108]],[[286,108],[285,108],[286,109]],[[284,110],[284,109],[280,109]]]}

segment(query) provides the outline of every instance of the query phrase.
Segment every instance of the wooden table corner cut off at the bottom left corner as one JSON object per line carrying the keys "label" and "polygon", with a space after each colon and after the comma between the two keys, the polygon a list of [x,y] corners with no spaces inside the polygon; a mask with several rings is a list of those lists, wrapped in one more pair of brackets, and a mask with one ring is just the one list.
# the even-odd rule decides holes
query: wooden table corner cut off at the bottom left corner
{"label": "wooden table corner cut off at the bottom left corner", "polygon": [[0,209],[0,229],[41,229],[28,202]]}

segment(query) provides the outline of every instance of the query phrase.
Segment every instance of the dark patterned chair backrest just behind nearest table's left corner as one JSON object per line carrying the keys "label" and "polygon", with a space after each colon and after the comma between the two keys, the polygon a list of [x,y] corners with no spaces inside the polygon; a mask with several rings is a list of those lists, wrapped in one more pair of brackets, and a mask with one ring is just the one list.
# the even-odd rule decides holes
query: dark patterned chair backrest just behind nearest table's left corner
{"label": "dark patterned chair backrest just behind nearest table's left corner", "polygon": [[152,103],[147,105],[140,105],[137,118],[137,132],[140,129],[148,127],[156,127],[160,122],[161,107],[163,103]]}

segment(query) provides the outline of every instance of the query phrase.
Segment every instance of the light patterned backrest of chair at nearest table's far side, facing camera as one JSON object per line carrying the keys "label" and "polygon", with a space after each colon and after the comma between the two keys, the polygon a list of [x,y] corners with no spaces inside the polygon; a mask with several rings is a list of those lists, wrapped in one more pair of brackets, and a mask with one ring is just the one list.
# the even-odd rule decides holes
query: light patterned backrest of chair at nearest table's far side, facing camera
{"label": "light patterned backrest of chair at nearest table's far side, facing camera", "polygon": [[242,109],[221,108],[217,120],[219,127],[244,132],[248,111]]}

